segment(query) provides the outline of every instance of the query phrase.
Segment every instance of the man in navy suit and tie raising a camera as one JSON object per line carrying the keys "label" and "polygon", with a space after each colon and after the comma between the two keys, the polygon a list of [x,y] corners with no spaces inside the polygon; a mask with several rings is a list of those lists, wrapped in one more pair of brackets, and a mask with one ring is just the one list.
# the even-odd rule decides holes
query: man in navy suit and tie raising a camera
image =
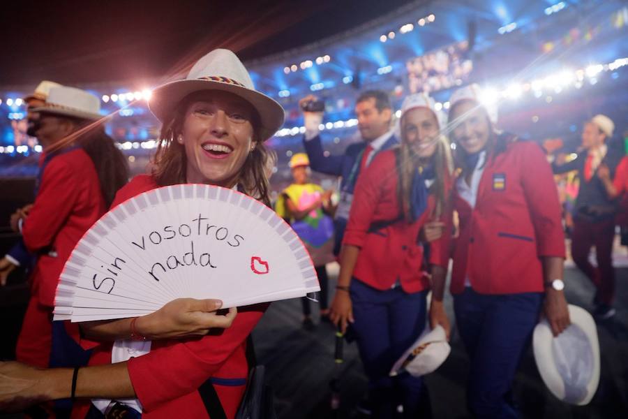
{"label": "man in navy suit and tie raising a camera", "polygon": [[341,198],[334,216],[336,231],[334,254],[338,255],[351,209],[353,190],[360,172],[373,161],[379,152],[397,145],[398,139],[391,126],[393,111],[388,94],[381,90],[368,90],[360,94],[355,103],[357,126],[362,141],[349,145],[344,154],[326,156],[319,128],[324,113],[307,110],[308,103],[315,101],[316,98],[313,95],[299,101],[299,108],[304,110],[306,128],[303,145],[310,159],[312,170],[342,177]]}

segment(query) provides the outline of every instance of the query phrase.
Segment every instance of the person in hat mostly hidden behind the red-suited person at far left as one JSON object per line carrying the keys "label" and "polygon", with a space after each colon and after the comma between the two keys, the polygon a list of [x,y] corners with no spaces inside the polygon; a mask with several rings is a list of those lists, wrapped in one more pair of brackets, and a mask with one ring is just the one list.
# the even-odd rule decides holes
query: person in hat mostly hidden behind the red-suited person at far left
{"label": "person in hat mostly hidden behind the red-suited person at far left", "polygon": [[[61,84],[50,82],[48,80],[43,80],[38,84],[32,94],[29,94],[29,96],[26,96],[23,99],[27,107],[27,134],[29,136],[36,136],[36,124],[39,117],[38,113],[31,112],[31,110],[33,108],[38,108],[42,106],[45,103],[48,94],[50,93],[50,89],[52,87],[59,86],[61,86]],[[31,207],[33,207],[32,203],[25,205],[22,208],[18,208],[17,211],[11,214],[9,224],[11,230],[15,231],[15,233],[20,233],[20,225],[22,223],[22,220],[28,216]],[[15,268],[19,266],[30,267],[31,265],[33,265],[33,263],[34,257],[31,256],[31,253],[29,253],[26,246],[24,246],[24,241],[20,240],[20,242],[17,242],[17,244],[15,244],[15,246],[13,246],[6,253],[4,258],[0,260],[0,286],[6,285],[8,275],[10,274],[10,272],[13,272]]]}

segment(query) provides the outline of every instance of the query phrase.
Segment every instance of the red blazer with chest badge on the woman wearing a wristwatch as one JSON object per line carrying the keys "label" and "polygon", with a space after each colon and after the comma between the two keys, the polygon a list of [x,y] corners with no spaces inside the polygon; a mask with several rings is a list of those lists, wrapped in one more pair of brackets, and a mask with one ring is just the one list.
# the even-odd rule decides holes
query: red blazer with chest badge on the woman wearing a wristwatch
{"label": "red blazer with chest badge on the woman wearing a wristwatch", "polygon": [[451,293],[468,275],[482,294],[543,292],[541,256],[565,258],[561,207],[552,170],[534,142],[514,142],[489,157],[475,208],[454,187],[460,235],[454,247]]}

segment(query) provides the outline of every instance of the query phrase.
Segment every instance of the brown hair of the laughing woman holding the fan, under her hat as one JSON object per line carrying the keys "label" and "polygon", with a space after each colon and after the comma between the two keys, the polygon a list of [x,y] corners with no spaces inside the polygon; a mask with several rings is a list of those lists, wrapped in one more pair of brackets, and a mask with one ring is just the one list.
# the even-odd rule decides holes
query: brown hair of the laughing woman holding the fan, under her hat
{"label": "brown hair of the laughing woman holding the fan, under her hat", "polygon": [[[157,151],[153,157],[152,175],[160,186],[186,183],[187,156],[185,147],[177,142],[183,131],[186,110],[192,98],[186,96],[174,110],[174,115],[166,119],[159,133]],[[238,184],[248,196],[270,206],[270,186],[268,167],[274,163],[274,152],[264,145],[260,138],[260,117],[254,112],[253,142],[255,148],[246,157],[240,168]]]}

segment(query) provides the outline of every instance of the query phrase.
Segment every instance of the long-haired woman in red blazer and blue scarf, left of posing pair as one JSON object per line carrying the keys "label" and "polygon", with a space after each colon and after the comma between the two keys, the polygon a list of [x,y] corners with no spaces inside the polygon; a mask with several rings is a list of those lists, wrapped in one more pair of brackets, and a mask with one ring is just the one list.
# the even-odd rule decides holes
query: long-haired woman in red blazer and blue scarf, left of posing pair
{"label": "long-haired woman in red blazer and blue scarf, left of posing pair", "polygon": [[422,378],[389,372],[424,330],[424,271],[444,280],[449,260],[446,234],[431,243],[426,262],[420,237],[446,212],[451,157],[438,113],[424,94],[405,99],[401,145],[377,154],[357,180],[343,238],[331,320],[342,332],[350,324],[357,339],[376,418],[392,418],[399,404],[409,418],[426,409]]}

